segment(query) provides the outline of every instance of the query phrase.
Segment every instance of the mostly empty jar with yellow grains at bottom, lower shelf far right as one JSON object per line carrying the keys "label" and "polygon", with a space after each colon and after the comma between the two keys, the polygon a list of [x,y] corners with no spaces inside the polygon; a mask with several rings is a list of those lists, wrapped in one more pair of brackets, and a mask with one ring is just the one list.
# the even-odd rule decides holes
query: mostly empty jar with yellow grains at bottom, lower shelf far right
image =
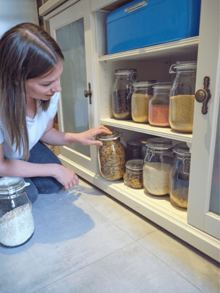
{"label": "mostly empty jar with yellow grains at bottom, lower shelf far right", "polygon": [[170,200],[181,208],[187,208],[191,153],[186,143],[174,148],[174,162],[170,172]]}

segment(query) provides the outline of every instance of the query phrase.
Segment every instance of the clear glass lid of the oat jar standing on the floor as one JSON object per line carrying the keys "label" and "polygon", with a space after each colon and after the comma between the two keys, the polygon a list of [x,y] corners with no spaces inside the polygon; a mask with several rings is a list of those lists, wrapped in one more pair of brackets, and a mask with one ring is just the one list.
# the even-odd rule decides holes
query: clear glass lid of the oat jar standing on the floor
{"label": "clear glass lid of the oat jar standing on the floor", "polygon": [[25,186],[28,186],[23,177],[6,176],[0,178],[0,195],[13,194],[21,191]]}

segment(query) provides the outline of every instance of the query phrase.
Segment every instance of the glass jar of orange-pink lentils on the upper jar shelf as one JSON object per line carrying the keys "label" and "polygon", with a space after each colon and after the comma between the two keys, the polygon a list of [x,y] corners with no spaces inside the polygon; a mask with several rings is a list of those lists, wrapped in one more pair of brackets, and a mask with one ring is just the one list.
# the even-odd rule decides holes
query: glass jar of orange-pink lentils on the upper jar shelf
{"label": "glass jar of orange-pink lentils on the upper jar shelf", "polygon": [[149,101],[149,123],[154,126],[168,127],[169,100],[172,83],[156,83],[153,85],[153,97]]}

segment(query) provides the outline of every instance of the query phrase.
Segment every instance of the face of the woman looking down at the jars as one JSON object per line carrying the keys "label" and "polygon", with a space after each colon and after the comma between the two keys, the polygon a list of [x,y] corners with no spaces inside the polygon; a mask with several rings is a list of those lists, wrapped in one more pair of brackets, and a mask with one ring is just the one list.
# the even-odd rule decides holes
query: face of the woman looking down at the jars
{"label": "face of the woman looking down at the jars", "polygon": [[61,92],[59,78],[63,72],[63,63],[59,61],[44,75],[29,79],[25,82],[27,98],[40,99],[47,101],[56,92]]}

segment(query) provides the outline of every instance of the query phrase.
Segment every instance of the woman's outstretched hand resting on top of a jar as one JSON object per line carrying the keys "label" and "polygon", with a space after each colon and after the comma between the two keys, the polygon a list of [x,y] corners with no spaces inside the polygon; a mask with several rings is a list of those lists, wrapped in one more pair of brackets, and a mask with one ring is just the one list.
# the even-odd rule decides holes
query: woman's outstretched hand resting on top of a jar
{"label": "woman's outstretched hand resting on top of a jar", "polygon": [[83,146],[102,146],[102,142],[93,140],[93,137],[100,133],[106,133],[110,135],[112,132],[105,126],[98,126],[85,132],[74,134],[74,140]]}

